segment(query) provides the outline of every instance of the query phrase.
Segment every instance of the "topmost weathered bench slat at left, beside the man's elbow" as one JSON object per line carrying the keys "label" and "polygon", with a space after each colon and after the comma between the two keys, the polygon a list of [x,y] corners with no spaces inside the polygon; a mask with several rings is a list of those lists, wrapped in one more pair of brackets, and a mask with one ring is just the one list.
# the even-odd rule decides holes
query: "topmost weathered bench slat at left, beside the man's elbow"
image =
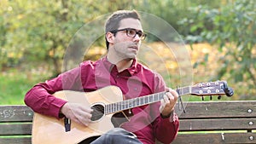
{"label": "topmost weathered bench slat at left, beside the man's elbow", "polygon": [[0,123],[32,121],[32,118],[32,109],[25,105],[0,106]]}

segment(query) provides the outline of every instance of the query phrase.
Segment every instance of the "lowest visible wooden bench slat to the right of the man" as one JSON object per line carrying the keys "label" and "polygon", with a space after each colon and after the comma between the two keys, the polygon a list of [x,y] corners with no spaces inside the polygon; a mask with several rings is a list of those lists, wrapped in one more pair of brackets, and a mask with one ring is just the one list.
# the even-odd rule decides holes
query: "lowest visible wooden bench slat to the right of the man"
{"label": "lowest visible wooden bench slat to the right of the man", "polygon": [[255,133],[188,134],[178,135],[172,144],[256,143]]}

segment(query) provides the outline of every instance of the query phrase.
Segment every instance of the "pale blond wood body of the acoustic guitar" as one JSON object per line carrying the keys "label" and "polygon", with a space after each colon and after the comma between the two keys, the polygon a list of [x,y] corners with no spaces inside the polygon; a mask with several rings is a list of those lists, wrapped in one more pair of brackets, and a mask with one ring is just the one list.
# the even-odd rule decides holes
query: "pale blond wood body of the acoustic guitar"
{"label": "pale blond wood body of the acoustic guitar", "polygon": [[[108,86],[90,93],[63,90],[56,92],[54,95],[62,100],[89,107],[96,104],[104,106],[105,104],[123,101],[121,90],[115,86]],[[113,114],[103,115],[102,118],[93,121],[88,127],[72,121],[71,130],[66,132],[64,118],[57,119],[35,112],[32,124],[32,143],[79,143],[112,130],[112,116]]]}

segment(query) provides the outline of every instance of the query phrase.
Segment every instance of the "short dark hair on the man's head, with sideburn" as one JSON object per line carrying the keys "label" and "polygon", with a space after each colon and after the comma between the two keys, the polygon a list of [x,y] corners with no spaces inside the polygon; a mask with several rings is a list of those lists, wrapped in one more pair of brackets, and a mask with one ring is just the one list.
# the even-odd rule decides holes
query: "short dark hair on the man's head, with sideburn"
{"label": "short dark hair on the man's head, with sideburn", "polygon": [[[114,12],[113,14],[110,15],[108,20],[106,21],[105,24],[105,34],[107,32],[112,32],[113,30],[117,30],[119,28],[119,22],[120,20],[126,19],[126,18],[133,18],[137,20],[141,20],[139,14],[137,14],[136,10],[119,10]],[[108,49],[108,40],[105,37],[106,40],[106,46]]]}

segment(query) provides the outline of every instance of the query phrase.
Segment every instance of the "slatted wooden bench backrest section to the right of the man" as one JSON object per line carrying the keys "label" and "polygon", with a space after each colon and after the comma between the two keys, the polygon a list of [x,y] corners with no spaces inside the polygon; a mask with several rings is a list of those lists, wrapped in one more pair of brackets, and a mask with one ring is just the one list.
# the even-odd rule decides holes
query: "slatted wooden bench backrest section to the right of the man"
{"label": "slatted wooden bench backrest section to the right of the man", "polygon": [[256,101],[184,103],[174,144],[256,143]]}

